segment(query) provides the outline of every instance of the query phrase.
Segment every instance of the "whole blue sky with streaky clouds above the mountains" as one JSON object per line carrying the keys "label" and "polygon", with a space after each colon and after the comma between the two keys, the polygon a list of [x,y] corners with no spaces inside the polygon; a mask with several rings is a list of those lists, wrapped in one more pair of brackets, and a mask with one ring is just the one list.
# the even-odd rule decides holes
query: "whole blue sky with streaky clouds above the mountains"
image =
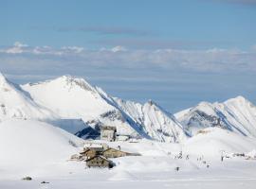
{"label": "whole blue sky with streaky clouds above the mountains", "polygon": [[256,103],[254,0],[0,0],[0,69],[24,83],[84,77],[170,112]]}

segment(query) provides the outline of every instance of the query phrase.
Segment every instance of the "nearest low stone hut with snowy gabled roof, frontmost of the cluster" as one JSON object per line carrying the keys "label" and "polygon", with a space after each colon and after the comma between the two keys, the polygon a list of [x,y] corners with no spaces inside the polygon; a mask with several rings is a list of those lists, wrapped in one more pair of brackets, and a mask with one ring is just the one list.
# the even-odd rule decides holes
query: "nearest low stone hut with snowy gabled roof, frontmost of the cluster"
{"label": "nearest low stone hut with snowy gabled roof, frontmost of the cluster", "polygon": [[94,156],[88,160],[86,160],[86,165],[90,168],[90,167],[108,167],[108,168],[112,168],[115,164],[106,159],[103,156],[97,155]]}

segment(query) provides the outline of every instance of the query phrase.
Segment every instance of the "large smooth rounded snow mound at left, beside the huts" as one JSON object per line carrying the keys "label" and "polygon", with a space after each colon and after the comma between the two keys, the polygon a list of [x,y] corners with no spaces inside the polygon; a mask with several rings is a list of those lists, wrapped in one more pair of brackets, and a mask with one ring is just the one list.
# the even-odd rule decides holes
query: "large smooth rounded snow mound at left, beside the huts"
{"label": "large smooth rounded snow mound at left, beside the huts", "polygon": [[26,172],[62,163],[81,145],[82,139],[44,122],[4,121],[0,123],[0,170]]}

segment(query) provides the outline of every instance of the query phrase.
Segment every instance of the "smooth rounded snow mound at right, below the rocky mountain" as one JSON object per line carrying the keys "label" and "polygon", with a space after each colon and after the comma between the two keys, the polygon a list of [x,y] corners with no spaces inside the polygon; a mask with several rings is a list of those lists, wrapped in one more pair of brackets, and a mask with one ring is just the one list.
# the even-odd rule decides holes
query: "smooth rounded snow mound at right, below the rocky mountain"
{"label": "smooth rounded snow mound at right, below the rocky mountain", "polygon": [[225,153],[244,153],[256,147],[255,138],[221,129],[218,127],[201,129],[190,140],[183,144],[182,150],[187,154],[201,154],[202,156],[220,157]]}

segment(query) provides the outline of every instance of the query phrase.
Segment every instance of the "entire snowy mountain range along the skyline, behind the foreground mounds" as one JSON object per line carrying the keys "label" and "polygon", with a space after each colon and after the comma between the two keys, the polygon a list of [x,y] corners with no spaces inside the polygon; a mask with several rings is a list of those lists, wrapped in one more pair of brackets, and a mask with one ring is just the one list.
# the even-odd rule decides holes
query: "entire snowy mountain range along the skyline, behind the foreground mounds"
{"label": "entire snowy mountain range along the skyline, behind the foreground mounds", "polygon": [[256,107],[242,96],[224,103],[202,102],[173,115],[151,100],[124,101],[70,76],[19,86],[0,74],[0,121],[12,118],[47,122],[81,138],[97,138],[101,126],[170,143],[212,127],[256,137]]}

